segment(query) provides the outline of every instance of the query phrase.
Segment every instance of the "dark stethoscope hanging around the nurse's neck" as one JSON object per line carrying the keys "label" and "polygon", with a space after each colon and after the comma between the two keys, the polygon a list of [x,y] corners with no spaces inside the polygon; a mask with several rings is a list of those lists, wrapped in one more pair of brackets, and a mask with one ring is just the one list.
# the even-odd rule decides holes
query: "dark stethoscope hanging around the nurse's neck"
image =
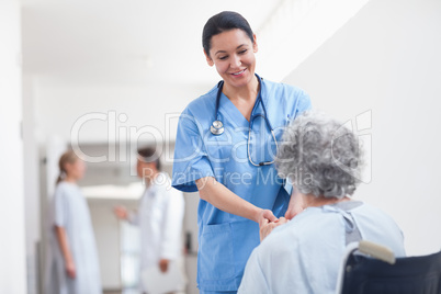
{"label": "dark stethoscope hanging around the nurse's neck", "polygon": [[[267,115],[267,109],[264,106],[263,100],[262,100],[262,79],[255,74],[256,77],[258,78],[259,81],[259,93],[258,93],[258,98],[256,100],[256,105],[258,105],[258,103],[260,102],[263,109],[263,114],[258,113],[252,115],[252,112],[255,111],[255,109],[251,111],[251,117],[249,121],[249,125],[248,125],[248,142],[247,142],[247,152],[248,152],[248,160],[250,161],[251,165],[253,165],[255,167],[261,167],[261,166],[269,166],[274,163],[275,158],[272,161],[262,161],[259,163],[256,163],[255,161],[252,161],[251,159],[251,155],[250,155],[250,137],[251,137],[251,129],[252,129],[252,122],[256,120],[256,117],[262,116],[267,123],[267,126],[270,128],[271,131],[271,135],[274,139],[275,143],[275,150],[279,151],[279,145],[278,145],[278,140],[275,139],[275,135],[274,135],[274,131],[271,126],[270,121],[268,120],[268,115]],[[222,135],[224,134],[224,124],[222,123],[220,118],[219,118],[219,102],[220,102],[220,94],[222,94],[222,88],[224,87],[224,81],[219,81],[219,83],[217,84],[217,95],[216,95],[216,110],[215,110],[215,116],[216,120],[213,122],[212,126],[210,127],[210,131],[212,132],[213,135]]]}

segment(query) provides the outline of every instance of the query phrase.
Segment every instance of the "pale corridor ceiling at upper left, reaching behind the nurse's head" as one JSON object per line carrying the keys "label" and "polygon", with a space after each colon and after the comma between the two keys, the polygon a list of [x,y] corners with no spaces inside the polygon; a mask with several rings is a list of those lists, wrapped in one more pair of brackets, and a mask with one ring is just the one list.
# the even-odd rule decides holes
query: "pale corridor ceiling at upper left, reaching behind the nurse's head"
{"label": "pale corridor ceiling at upper left, reaching behind the nurse's head", "polygon": [[23,70],[74,84],[213,83],[201,44],[206,20],[238,11],[258,33],[280,2],[23,0]]}

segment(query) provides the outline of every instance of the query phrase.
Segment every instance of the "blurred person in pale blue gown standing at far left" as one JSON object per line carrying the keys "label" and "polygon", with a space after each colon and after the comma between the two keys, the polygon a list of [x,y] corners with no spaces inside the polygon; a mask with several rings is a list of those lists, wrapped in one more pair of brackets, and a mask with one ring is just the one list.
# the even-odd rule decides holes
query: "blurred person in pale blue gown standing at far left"
{"label": "blurred person in pale blue gown standing at far left", "polygon": [[49,217],[47,294],[102,293],[90,212],[77,182],[86,163],[74,150],[59,159],[59,177]]}

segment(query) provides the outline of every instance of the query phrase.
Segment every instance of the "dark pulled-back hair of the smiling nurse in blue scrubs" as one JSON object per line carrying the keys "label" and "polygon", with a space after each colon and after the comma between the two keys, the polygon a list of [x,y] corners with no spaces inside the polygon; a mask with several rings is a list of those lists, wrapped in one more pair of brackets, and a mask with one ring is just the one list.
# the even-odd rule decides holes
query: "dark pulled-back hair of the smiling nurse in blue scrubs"
{"label": "dark pulled-back hair of the smiling nurse in blue scrubs", "polygon": [[239,13],[234,11],[223,11],[210,18],[202,32],[202,46],[204,47],[206,55],[210,56],[213,36],[234,29],[242,30],[251,42],[255,41],[250,24]]}

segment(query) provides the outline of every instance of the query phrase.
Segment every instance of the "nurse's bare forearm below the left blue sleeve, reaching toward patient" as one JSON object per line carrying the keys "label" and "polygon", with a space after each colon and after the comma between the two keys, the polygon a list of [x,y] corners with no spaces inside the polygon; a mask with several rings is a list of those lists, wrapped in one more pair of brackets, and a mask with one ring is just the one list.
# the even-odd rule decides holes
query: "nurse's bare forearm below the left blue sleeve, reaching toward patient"
{"label": "nurse's bare forearm below the left blue sleeve, reaching toward patient", "polygon": [[201,199],[205,200],[220,211],[246,217],[255,220],[256,223],[259,223],[264,214],[264,210],[259,208],[248,201],[239,197],[212,177],[196,180],[196,185]]}

